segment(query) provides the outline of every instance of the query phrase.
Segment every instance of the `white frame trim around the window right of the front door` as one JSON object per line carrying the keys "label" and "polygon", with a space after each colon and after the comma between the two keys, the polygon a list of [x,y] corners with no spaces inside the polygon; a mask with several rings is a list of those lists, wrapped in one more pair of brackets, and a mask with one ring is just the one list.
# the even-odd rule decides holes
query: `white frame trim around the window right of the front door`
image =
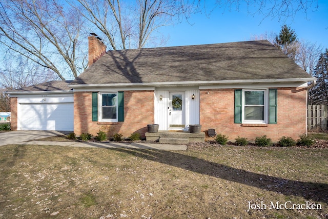
{"label": "white frame trim around the window right of the front door", "polygon": [[[264,91],[264,121],[245,120],[245,91]],[[242,124],[268,124],[269,123],[269,89],[242,89]]]}

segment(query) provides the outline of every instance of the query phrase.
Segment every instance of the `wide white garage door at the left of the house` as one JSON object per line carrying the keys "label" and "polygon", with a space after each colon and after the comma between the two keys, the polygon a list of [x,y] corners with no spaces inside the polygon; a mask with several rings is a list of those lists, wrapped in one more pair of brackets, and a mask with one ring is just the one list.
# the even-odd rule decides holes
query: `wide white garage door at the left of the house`
{"label": "wide white garage door at the left of the house", "polygon": [[74,130],[73,103],[21,104],[22,130]]}

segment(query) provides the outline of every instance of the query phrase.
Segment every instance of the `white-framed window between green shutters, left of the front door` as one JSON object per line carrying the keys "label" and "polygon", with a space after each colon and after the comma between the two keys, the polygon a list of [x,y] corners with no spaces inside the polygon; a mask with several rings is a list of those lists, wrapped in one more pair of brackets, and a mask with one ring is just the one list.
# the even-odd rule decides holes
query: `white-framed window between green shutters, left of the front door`
{"label": "white-framed window between green shutters, left of the front door", "polygon": [[98,118],[100,122],[118,121],[117,92],[100,92],[98,101]]}

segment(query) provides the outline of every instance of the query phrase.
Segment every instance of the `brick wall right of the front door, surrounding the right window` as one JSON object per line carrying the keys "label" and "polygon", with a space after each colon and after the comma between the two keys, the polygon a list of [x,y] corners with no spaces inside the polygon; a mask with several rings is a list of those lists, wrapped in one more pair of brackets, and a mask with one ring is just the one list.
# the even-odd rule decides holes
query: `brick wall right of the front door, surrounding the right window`
{"label": "brick wall right of the front door, surrounding the right window", "polygon": [[306,133],[306,89],[278,88],[277,124],[242,126],[234,124],[234,89],[200,90],[200,124],[202,130],[214,128],[217,133],[254,140],[267,135],[276,142],[281,136],[295,140]]}

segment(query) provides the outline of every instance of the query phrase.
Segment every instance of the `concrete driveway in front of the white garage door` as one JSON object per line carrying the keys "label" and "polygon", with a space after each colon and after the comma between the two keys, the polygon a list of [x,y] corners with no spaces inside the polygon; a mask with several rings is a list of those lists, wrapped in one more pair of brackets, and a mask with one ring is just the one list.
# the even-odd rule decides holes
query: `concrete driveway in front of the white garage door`
{"label": "concrete driveway in front of the white garage door", "polygon": [[33,131],[33,130],[22,130],[22,131],[8,131],[0,132],[0,146],[10,144],[22,144],[28,141],[36,139],[61,135],[58,131]]}

